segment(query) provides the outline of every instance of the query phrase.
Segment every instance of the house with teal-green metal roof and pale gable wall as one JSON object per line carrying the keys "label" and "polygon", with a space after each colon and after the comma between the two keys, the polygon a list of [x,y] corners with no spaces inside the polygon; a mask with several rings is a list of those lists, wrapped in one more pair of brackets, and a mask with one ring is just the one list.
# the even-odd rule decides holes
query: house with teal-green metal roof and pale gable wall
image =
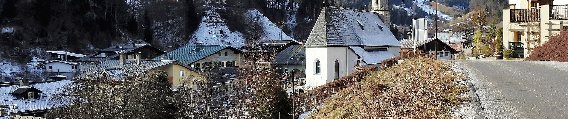
{"label": "house with teal-green metal roof and pale gable wall", "polygon": [[241,51],[231,46],[185,46],[154,58],[177,60],[191,68],[207,72],[216,67],[239,67]]}

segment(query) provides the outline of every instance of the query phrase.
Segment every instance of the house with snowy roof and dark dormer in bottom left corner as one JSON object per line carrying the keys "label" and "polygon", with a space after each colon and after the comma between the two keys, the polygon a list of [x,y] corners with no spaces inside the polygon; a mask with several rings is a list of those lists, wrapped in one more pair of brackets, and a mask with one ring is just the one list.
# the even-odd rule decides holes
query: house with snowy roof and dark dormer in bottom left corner
{"label": "house with snowy roof and dark dormer in bottom left corner", "polygon": [[[60,88],[73,81],[59,80],[29,84],[30,79],[19,79],[19,85],[0,85],[0,118],[35,116],[49,118],[47,111],[66,107],[67,103],[51,102]],[[18,116],[16,116],[18,115]]]}

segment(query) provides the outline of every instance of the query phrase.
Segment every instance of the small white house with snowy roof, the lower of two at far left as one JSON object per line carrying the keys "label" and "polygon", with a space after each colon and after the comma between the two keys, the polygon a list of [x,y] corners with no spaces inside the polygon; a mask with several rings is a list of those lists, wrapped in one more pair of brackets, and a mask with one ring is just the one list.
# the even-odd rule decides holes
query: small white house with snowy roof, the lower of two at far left
{"label": "small white house with snowy roof, the lower of two at far left", "polygon": [[78,72],[81,67],[79,63],[65,60],[51,60],[45,63],[46,72]]}

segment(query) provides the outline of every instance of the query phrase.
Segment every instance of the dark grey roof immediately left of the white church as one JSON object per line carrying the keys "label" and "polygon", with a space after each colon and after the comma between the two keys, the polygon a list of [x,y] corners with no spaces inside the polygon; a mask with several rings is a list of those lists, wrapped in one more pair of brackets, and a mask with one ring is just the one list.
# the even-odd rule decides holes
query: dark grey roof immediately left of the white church
{"label": "dark grey roof immediately left of the white church", "polygon": [[[306,49],[302,45],[294,44],[279,52],[274,57],[272,64],[306,64],[304,61],[305,55]],[[300,58],[300,60],[291,58]]]}

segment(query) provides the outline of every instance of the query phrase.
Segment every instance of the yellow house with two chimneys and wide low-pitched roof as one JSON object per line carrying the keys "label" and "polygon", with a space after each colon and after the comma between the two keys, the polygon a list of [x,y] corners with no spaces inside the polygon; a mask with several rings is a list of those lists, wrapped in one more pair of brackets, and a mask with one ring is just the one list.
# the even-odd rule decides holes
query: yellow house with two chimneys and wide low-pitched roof
{"label": "yellow house with two chimneys and wide low-pitched roof", "polygon": [[[180,85],[186,84],[185,82],[204,81],[203,72],[177,60],[147,60],[141,59],[140,54],[135,55],[136,59],[126,59],[127,54],[119,54],[119,59],[107,59],[93,68],[85,70],[84,73],[79,74],[74,79],[100,77],[120,84],[120,82],[128,81],[131,76],[139,76],[152,71],[163,71],[168,74],[172,89],[177,89]],[[195,85],[183,87],[197,89]]]}

